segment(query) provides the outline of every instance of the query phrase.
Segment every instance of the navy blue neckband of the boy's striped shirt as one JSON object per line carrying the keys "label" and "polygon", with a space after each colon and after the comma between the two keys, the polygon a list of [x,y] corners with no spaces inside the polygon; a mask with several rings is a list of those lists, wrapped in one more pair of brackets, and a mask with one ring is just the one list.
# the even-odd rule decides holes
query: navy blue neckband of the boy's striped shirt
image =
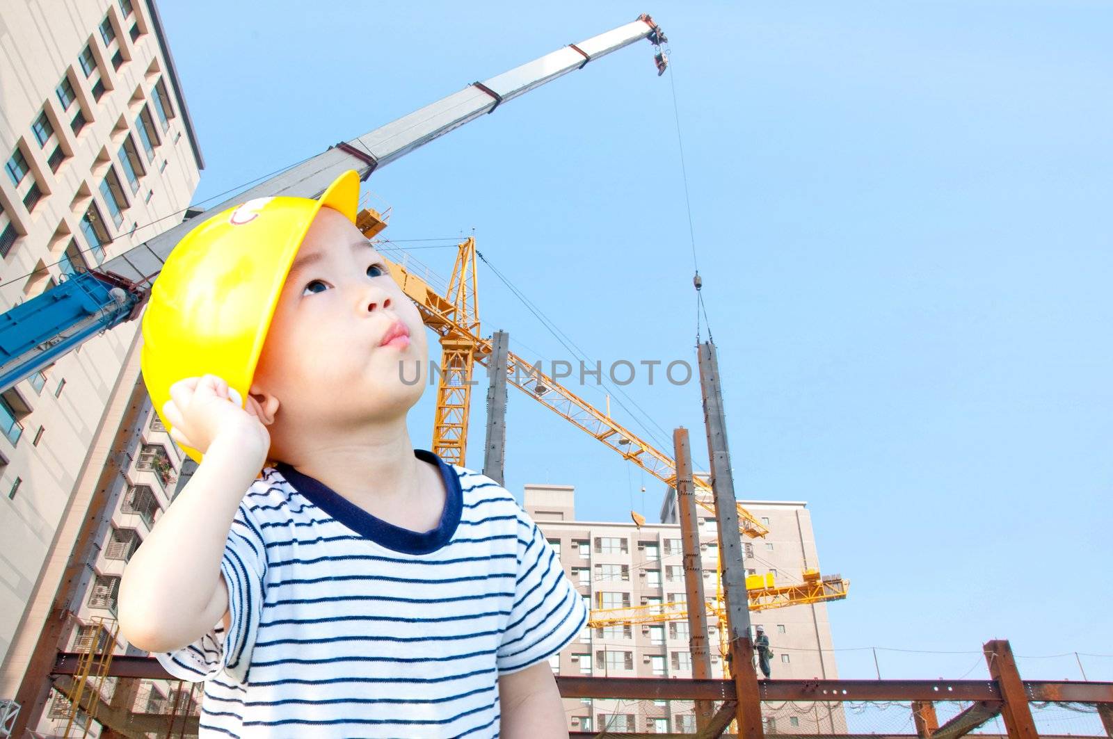
{"label": "navy blue neckband of the boy's striped shirt", "polygon": [[463,492],[460,489],[460,476],[440,456],[420,449],[414,450],[414,456],[440,467],[445,490],[441,522],[436,529],[424,533],[396,526],[367,513],[321,481],[302,474],[288,464],[279,463],[277,470],[311,503],[365,539],[395,552],[429,554],[447,544],[452,535],[456,533],[463,508]]}

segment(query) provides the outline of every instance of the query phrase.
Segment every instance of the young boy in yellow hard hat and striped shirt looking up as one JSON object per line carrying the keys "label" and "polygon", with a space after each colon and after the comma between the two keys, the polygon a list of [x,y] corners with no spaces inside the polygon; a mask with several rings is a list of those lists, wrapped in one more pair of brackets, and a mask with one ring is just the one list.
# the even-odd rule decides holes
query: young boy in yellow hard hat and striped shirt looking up
{"label": "young boy in yellow hard hat and striped shirt looking up", "polygon": [[200,465],[121,630],[205,681],[203,737],[567,737],[548,659],[587,609],[505,490],[413,449],[424,326],[358,191],[227,210],[156,280],[144,378]]}

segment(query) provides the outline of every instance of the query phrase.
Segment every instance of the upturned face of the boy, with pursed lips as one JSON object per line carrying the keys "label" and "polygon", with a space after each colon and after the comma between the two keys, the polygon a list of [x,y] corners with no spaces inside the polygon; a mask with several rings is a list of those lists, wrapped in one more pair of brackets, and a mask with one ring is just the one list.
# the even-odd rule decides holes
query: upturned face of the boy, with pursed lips
{"label": "upturned face of the boy, with pursed lips", "polygon": [[286,277],[255,372],[255,387],[279,403],[273,452],[280,459],[315,431],[405,415],[424,387],[426,357],[421,314],[383,257],[352,221],[322,208]]}

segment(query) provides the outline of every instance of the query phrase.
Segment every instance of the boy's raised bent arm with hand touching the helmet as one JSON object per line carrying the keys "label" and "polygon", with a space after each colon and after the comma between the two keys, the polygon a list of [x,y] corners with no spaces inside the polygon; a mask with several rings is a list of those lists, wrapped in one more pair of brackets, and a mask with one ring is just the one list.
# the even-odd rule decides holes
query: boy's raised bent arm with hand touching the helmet
{"label": "boy's raised bent arm with hand touching the helmet", "polygon": [[[175,400],[164,411],[175,441],[204,450],[204,461],[120,582],[120,630],[152,652],[185,647],[221,617],[227,621],[228,591],[220,574],[225,542],[267,452],[266,430],[228,400],[227,385],[209,377],[185,382],[191,384],[171,388]],[[186,431],[178,433],[179,427]]]}

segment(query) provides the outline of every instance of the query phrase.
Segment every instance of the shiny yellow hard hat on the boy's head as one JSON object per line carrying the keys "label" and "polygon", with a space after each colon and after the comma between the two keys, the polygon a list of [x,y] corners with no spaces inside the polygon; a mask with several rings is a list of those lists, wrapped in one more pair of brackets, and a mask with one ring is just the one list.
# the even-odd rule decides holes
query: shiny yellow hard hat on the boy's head
{"label": "shiny yellow hard hat on the boy's head", "polygon": [[[322,207],[355,223],[359,177],[348,170],[319,200],[268,197],[208,218],[178,242],[151,286],[140,365],[159,417],[170,385],[217,375],[246,401],[294,257]],[[164,424],[169,428],[166,418]],[[185,447],[194,460],[197,450]]]}

